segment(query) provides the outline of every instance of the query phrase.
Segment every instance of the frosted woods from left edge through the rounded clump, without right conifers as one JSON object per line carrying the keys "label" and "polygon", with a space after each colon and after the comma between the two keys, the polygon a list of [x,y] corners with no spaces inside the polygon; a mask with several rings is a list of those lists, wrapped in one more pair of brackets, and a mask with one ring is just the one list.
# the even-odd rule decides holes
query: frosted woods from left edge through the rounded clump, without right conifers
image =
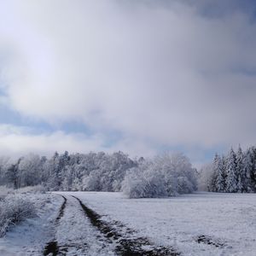
{"label": "frosted woods from left edge through the rounded clump, without right conifers", "polygon": [[0,185],[14,189],[38,184],[48,190],[124,191],[129,197],[193,192],[197,172],[183,154],[131,159],[123,152],[58,154],[47,159],[27,154],[0,159]]}

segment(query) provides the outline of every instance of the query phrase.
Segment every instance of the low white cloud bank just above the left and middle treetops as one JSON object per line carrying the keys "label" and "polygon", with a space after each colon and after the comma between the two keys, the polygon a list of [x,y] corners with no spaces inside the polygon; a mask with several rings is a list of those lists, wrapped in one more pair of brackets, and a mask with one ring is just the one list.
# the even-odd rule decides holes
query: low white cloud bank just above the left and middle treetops
{"label": "low white cloud bank just above the left and middle treetops", "polygon": [[69,153],[89,153],[105,151],[109,153],[119,150],[129,152],[131,157],[154,156],[156,150],[147,148],[147,143],[125,138],[122,143],[106,146],[106,137],[100,134],[84,136],[82,133],[65,133],[63,131],[36,134],[30,127],[0,125],[0,154],[20,156],[28,152],[51,155],[55,151]]}

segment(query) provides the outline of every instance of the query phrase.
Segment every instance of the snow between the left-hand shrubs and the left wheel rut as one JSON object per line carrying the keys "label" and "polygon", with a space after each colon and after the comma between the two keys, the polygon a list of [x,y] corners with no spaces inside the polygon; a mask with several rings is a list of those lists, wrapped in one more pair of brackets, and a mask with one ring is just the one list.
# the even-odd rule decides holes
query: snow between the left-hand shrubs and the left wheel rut
{"label": "snow between the left-hand shrubs and the left wheel rut", "polygon": [[0,238],[0,255],[42,255],[45,244],[52,239],[52,226],[61,206],[61,196],[24,194],[37,209],[37,218],[28,218],[12,227]]}

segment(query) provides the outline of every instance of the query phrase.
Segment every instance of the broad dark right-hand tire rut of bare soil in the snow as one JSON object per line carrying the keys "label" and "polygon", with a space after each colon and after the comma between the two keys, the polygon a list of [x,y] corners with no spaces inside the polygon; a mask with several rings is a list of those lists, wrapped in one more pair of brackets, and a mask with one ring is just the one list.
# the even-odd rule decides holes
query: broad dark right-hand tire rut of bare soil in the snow
{"label": "broad dark right-hand tire rut of bare soil in the snow", "polygon": [[[72,195],[73,196],[73,195]],[[122,256],[139,256],[139,255],[148,255],[148,256],[177,256],[180,255],[173,247],[160,247],[154,246],[146,237],[136,237],[131,238],[129,235],[135,231],[129,230],[129,234],[122,234],[118,230],[118,226],[113,224],[108,224],[106,221],[103,221],[102,216],[97,212],[90,209],[84,205],[78,197],[73,196],[77,201],[79,201],[80,206],[83,208],[86,217],[90,219],[90,223],[96,227],[97,230],[100,230],[101,233],[112,240],[116,244],[115,253]],[[115,223],[119,224],[119,223]],[[119,224],[119,228],[124,228],[123,224]],[[125,236],[126,235],[126,236]]]}

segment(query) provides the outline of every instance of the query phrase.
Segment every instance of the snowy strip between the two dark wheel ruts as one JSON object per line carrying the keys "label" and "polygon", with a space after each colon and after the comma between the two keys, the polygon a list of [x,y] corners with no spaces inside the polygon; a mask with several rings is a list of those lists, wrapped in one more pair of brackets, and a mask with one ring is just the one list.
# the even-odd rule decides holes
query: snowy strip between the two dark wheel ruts
{"label": "snowy strip between the two dark wheel ruts", "polygon": [[91,226],[79,201],[68,196],[64,213],[55,234],[60,252],[65,255],[114,255],[113,245]]}

